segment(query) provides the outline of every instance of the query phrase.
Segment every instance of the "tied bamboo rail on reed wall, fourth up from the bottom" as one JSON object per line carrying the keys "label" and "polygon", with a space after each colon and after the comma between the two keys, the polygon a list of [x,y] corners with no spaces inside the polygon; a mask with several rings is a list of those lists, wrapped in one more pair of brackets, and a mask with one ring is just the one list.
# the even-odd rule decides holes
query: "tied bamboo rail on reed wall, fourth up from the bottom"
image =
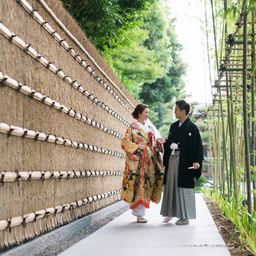
{"label": "tied bamboo rail on reed wall, fourth up from the bottom", "polygon": [[2,72],[0,72],[0,83],[2,83],[3,85],[7,85],[15,90],[18,90],[20,93],[28,95],[28,96],[30,96],[30,98],[36,99],[48,106],[51,106],[60,112],[66,113],[69,116],[73,116],[76,119],[79,119],[80,121],[87,123],[88,125],[91,125],[95,128],[105,131],[119,139],[122,139],[122,135],[119,134],[118,132],[113,131],[112,129],[109,129],[109,128],[97,123],[97,121],[94,122],[93,119],[91,120],[91,119],[87,118],[87,116],[83,116],[82,114],[77,113],[75,110],[72,110],[72,108],[65,107],[64,105],[58,103],[57,101],[50,99],[49,97],[46,97],[41,93],[36,92],[35,90],[31,89],[29,86],[27,86],[25,84],[21,84],[18,81],[16,81],[15,79],[12,79],[7,75],[4,75]]}

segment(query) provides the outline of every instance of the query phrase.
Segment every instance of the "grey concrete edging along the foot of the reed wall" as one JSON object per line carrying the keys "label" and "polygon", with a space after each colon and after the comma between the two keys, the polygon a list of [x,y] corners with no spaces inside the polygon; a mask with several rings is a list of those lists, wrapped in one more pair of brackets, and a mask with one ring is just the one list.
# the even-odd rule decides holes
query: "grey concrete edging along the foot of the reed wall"
{"label": "grey concrete edging along the foot of the reed wall", "polygon": [[95,221],[98,221],[104,218],[106,215],[111,212],[115,212],[118,209],[127,206],[128,204],[125,201],[118,201],[107,207],[104,207],[96,212],[93,212],[89,215],[86,215],[82,218],[79,218],[76,221],[73,221],[64,226],[58,227],[55,230],[52,230],[46,234],[36,237],[31,241],[28,241],[24,244],[20,244],[12,249],[6,250],[0,253],[1,256],[35,256],[35,254],[40,253],[42,250],[45,250],[49,245],[52,244],[52,241],[58,242],[67,237],[72,236],[74,233],[84,230],[90,224]]}

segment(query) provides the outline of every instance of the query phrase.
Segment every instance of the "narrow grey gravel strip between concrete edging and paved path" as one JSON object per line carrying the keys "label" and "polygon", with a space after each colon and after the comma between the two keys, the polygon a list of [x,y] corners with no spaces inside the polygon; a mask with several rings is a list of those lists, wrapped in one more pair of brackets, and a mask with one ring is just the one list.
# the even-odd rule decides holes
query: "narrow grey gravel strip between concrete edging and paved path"
{"label": "narrow grey gravel strip between concrete edging and paved path", "polygon": [[86,227],[86,230],[79,231],[75,233],[73,236],[70,236],[68,239],[58,241],[58,243],[56,244],[51,244],[41,253],[35,254],[35,256],[56,256],[62,253],[64,250],[67,250],[69,247],[86,238],[87,236],[97,231],[101,227],[105,226],[110,221],[113,221],[114,218],[117,218],[119,215],[126,212],[128,209],[130,209],[129,205],[122,207],[115,212],[111,212],[110,214],[106,215],[105,218],[102,218],[99,221],[90,224],[88,227]]}

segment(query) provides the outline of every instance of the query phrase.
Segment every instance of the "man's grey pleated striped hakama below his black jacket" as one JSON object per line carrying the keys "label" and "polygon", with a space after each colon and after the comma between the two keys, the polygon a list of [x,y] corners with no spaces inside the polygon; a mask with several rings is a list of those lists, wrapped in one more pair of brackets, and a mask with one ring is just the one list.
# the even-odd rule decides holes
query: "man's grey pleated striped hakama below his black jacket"
{"label": "man's grey pleated striped hakama below his black jacket", "polygon": [[[178,187],[180,151],[171,154],[160,214],[168,217],[195,219],[195,190]],[[188,172],[190,170],[188,169]]]}

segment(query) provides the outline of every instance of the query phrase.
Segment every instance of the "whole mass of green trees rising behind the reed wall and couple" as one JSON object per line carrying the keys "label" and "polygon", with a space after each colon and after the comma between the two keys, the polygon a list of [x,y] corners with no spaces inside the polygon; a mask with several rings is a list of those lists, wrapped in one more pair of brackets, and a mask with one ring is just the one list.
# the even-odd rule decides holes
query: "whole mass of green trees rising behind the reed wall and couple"
{"label": "whole mass of green trees rising behind the reed wall and couple", "polygon": [[[163,0],[63,0],[90,41],[160,128],[172,122],[170,102],[183,94],[186,65]],[[167,130],[167,129],[166,129]]]}

